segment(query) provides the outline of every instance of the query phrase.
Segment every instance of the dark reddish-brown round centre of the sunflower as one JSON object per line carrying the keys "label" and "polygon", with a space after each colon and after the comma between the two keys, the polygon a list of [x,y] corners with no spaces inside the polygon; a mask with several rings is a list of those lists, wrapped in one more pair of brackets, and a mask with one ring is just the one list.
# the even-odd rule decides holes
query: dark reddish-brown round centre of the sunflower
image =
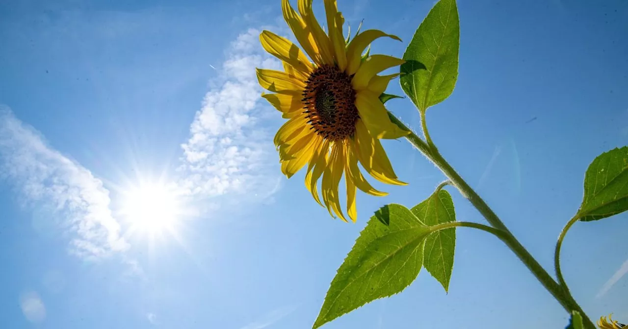
{"label": "dark reddish-brown round centre of the sunflower", "polygon": [[305,83],[302,101],[311,129],[332,141],[352,136],[359,115],[351,76],[335,66],[323,65]]}

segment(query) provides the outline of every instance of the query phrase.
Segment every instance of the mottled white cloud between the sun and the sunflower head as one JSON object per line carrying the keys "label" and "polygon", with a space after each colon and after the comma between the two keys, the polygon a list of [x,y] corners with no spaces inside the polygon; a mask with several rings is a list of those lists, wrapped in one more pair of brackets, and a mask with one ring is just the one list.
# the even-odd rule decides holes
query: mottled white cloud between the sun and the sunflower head
{"label": "mottled white cloud between the sun and the sunflower head", "polygon": [[273,110],[260,97],[256,67],[279,68],[279,63],[261,49],[259,30],[249,29],[230,44],[220,76],[210,81],[181,145],[180,185],[188,195],[274,190],[277,161],[263,125]]}

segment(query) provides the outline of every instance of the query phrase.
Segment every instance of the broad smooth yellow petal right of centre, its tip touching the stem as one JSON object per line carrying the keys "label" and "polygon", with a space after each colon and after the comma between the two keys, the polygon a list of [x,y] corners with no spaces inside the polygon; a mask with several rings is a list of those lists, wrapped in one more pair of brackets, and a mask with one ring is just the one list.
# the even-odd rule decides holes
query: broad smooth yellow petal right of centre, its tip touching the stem
{"label": "broad smooth yellow petal right of centre, its tip touching the stem", "polygon": [[355,107],[372,137],[394,139],[410,133],[391,122],[384,104],[371,91],[359,91],[355,95]]}

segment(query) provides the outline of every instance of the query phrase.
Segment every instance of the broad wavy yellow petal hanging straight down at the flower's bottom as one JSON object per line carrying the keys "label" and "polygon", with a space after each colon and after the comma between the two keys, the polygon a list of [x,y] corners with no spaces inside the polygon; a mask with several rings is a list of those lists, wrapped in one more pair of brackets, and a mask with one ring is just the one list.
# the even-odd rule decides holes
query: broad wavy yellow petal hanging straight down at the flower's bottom
{"label": "broad wavy yellow petal hanging straight down at the flower's bottom", "polygon": [[340,198],[338,197],[338,184],[340,184],[340,179],[342,179],[342,173],[344,170],[344,152],[341,143],[334,143],[332,145],[332,154],[329,157],[329,164],[323,173],[323,202],[327,206],[327,210],[330,215],[333,216],[333,212],[340,217],[343,221],[347,221],[345,219],[344,214],[342,214],[342,209],[340,209]]}

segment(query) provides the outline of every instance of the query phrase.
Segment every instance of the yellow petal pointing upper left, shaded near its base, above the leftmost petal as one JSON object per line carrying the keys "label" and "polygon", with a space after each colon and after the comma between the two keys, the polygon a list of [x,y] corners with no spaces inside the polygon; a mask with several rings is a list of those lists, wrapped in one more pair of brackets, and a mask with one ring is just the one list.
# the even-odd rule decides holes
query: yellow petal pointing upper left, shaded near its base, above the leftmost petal
{"label": "yellow petal pointing upper left, shaded near its base, above the leftmost petal", "polygon": [[262,31],[259,34],[259,41],[262,43],[264,50],[279,58],[279,60],[290,64],[296,70],[302,73],[310,73],[312,71],[310,60],[290,40],[270,31]]}

